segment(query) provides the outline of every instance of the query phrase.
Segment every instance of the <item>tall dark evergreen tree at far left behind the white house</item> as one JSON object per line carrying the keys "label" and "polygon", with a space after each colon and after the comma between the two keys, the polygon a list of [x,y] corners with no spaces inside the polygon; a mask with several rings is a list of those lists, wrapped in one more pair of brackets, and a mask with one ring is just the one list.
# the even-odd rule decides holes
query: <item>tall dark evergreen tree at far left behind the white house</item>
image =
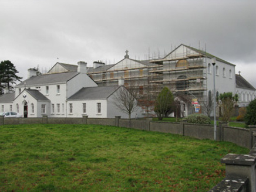
{"label": "tall dark evergreen tree at far left behind the white house", "polygon": [[0,92],[2,94],[2,90],[4,88],[8,88],[8,90],[12,90],[14,87],[13,84],[16,84],[16,81],[21,81],[22,77],[17,76],[19,73],[14,66],[14,64],[9,61],[1,61],[0,63]]}

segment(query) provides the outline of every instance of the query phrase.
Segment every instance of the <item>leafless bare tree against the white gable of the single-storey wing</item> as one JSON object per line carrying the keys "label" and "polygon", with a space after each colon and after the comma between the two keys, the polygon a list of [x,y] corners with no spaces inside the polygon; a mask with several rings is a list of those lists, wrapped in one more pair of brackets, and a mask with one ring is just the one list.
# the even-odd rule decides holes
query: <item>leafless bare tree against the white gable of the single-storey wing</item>
{"label": "leafless bare tree against the white gable of the single-storey wing", "polygon": [[114,105],[124,113],[129,115],[129,119],[131,118],[132,112],[137,110],[137,100],[136,100],[137,91],[134,88],[129,88],[127,90],[124,86],[121,86],[119,90],[117,90],[117,94],[114,95],[116,101]]}

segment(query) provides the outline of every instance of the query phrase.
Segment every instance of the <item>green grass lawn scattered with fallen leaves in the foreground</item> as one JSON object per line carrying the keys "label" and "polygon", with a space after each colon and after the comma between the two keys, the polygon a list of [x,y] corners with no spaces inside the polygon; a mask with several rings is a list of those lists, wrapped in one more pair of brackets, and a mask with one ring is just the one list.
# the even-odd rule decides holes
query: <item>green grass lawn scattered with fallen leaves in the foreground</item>
{"label": "green grass lawn scattered with fallen leaves in the foreground", "polygon": [[100,125],[0,126],[0,191],[208,191],[228,142]]}

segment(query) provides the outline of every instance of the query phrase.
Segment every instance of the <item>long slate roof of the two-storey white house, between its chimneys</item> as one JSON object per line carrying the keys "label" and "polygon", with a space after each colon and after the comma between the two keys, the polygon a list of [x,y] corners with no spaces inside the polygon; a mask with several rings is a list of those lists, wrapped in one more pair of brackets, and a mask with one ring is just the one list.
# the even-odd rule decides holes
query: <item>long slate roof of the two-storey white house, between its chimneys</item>
{"label": "long slate roof of the two-storey white house, between its chimneys", "polygon": [[43,74],[41,76],[33,76],[23,81],[22,83],[16,85],[16,87],[24,87],[31,85],[44,85],[44,84],[56,84],[65,83],[77,76],[78,72],[65,72],[65,73],[53,73],[53,74]]}

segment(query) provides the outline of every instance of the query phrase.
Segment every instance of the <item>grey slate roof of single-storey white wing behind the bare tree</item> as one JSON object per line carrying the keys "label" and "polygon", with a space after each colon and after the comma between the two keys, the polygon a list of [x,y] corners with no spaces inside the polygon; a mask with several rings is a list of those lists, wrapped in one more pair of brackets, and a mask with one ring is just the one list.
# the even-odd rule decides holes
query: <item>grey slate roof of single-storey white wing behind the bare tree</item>
{"label": "grey slate roof of single-storey white wing behind the bare tree", "polygon": [[68,100],[97,100],[106,99],[115,92],[119,86],[85,87],[73,94]]}

